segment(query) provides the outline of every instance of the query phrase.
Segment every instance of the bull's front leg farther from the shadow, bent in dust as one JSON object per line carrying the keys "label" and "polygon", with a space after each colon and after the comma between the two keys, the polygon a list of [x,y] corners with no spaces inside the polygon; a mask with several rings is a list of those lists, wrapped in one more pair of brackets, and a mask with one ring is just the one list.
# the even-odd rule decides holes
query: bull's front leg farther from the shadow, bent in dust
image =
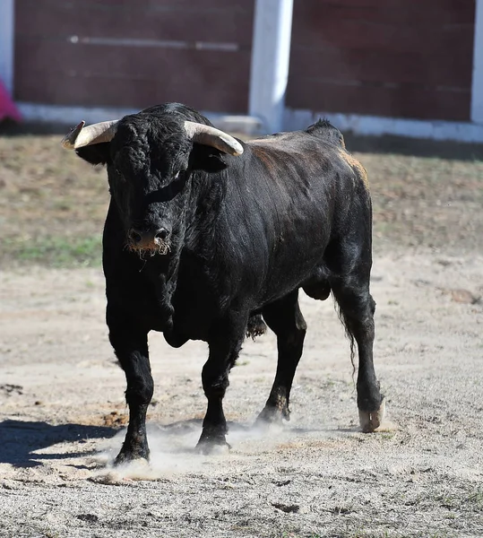
{"label": "bull's front leg farther from the shadow, bent in dust", "polygon": [[[220,327],[219,327],[220,328]],[[223,397],[229,386],[229,370],[235,364],[245,338],[246,319],[230,326],[229,330],[219,330],[209,342],[210,355],[203,372],[203,390],[208,399],[208,408],[203,420],[203,431],[197,449],[202,454],[210,454],[216,447],[229,447],[226,440],[227,421],[223,412]]]}

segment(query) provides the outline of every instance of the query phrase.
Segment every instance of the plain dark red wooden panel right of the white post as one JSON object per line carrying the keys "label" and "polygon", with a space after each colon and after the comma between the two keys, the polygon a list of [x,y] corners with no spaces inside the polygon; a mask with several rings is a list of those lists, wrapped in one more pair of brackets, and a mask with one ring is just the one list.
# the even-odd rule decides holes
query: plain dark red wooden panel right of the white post
{"label": "plain dark red wooden panel right of the white post", "polygon": [[295,0],[287,106],[470,119],[474,0]]}

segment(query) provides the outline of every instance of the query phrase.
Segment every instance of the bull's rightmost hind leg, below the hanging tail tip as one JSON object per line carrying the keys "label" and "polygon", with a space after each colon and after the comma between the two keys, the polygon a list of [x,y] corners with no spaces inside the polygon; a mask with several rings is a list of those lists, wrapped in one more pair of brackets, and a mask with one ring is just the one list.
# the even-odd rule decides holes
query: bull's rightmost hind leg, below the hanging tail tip
{"label": "bull's rightmost hind leg, below the hanging tail tip", "polygon": [[373,362],[375,301],[369,293],[370,262],[358,264],[348,275],[332,282],[332,291],[351,341],[358,344],[358,410],[363,431],[374,431],[384,418],[384,397]]}

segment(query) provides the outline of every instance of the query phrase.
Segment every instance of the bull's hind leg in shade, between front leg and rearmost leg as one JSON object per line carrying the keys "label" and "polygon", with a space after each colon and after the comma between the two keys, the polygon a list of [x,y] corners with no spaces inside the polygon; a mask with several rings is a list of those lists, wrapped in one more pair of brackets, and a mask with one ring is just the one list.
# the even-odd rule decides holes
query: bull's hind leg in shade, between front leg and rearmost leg
{"label": "bull's hind leg in shade, between front leg and rearmost leg", "polygon": [[263,308],[263,319],[277,335],[279,360],[272,391],[258,421],[289,420],[290,389],[306,336],[306,321],[298,308],[298,290]]}

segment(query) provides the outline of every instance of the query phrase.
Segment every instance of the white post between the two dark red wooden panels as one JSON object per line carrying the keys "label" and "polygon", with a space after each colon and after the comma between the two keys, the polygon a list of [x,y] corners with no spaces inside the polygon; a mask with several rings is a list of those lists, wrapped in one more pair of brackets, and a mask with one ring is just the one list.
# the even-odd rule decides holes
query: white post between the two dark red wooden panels
{"label": "white post between the two dark red wooden panels", "polygon": [[289,79],[293,0],[256,0],[248,113],[280,131]]}

